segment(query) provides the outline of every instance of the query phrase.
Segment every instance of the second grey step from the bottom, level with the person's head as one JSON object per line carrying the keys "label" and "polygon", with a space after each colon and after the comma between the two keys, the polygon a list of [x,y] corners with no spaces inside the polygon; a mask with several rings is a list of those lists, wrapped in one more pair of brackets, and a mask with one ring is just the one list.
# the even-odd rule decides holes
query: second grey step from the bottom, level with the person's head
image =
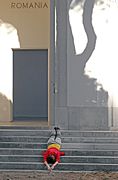
{"label": "second grey step from the bottom, level with the person's head", "polygon": [[[43,162],[40,155],[0,155],[0,162]],[[118,156],[63,156],[61,163],[118,164]]]}

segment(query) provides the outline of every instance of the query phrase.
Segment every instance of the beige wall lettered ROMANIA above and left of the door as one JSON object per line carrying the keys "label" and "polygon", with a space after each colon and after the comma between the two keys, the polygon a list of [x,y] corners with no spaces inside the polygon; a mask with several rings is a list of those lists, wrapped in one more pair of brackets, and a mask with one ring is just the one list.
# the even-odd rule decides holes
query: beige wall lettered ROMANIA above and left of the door
{"label": "beige wall lettered ROMANIA above and left of the door", "polygon": [[49,49],[50,0],[0,1],[0,121],[12,120],[13,49]]}

